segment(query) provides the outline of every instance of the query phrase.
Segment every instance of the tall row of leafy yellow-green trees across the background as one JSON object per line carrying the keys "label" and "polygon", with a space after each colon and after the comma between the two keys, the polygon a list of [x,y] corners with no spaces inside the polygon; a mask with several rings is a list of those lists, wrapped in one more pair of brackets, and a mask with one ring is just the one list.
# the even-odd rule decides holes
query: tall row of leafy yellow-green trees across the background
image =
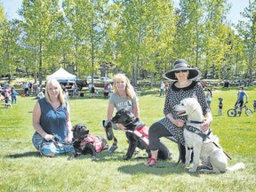
{"label": "tall row of leafy yellow-green trees across the background", "polygon": [[2,74],[25,68],[41,84],[60,67],[77,77],[125,72],[136,85],[184,58],[204,77],[255,76],[255,1],[236,30],[228,0],[180,0],[175,9],[169,0],[61,2],[23,0],[21,19],[11,21],[0,6]]}

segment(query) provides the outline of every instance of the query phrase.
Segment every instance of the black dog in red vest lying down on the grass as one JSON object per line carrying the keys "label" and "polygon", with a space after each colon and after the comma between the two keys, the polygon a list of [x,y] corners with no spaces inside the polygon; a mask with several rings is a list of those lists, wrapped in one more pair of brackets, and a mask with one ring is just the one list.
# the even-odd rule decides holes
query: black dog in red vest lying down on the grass
{"label": "black dog in red vest lying down on the grass", "polygon": [[76,156],[91,154],[92,160],[96,159],[96,154],[108,149],[108,142],[101,136],[93,136],[85,124],[76,124],[72,127],[73,147],[75,154],[69,156],[68,160]]}

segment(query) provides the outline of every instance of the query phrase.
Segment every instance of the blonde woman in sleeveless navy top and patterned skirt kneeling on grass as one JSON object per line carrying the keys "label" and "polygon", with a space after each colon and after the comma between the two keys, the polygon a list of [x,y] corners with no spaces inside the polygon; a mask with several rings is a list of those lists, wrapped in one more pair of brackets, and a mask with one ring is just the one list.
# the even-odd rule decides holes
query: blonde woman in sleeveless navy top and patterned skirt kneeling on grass
{"label": "blonde woman in sleeveless navy top and patterned skirt kneeling on grass", "polygon": [[[43,156],[73,152],[70,144],[73,134],[69,105],[63,96],[60,83],[51,79],[45,87],[45,97],[37,100],[33,110],[33,127],[36,132],[32,143]],[[57,145],[56,141],[60,141]],[[67,145],[62,143],[67,143]]]}

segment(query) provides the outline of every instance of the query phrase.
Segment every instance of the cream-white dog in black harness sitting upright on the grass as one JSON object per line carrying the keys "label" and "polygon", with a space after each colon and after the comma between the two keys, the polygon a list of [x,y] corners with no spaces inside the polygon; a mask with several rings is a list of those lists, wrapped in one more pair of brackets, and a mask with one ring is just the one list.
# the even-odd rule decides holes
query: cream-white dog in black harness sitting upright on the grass
{"label": "cream-white dog in black harness sitting upright on the grass", "polygon": [[[220,147],[218,137],[214,136],[211,130],[202,132],[200,124],[203,123],[203,111],[195,98],[187,98],[180,101],[180,104],[175,106],[175,110],[180,116],[188,116],[186,128],[184,129],[184,139],[186,147],[186,165],[189,165],[192,150],[194,152],[193,167],[188,172],[196,172],[199,166],[200,157],[203,159],[203,164],[210,169],[202,169],[205,173],[220,173],[226,171],[236,171],[243,169],[244,164],[235,164],[233,167],[228,167],[228,156]],[[203,166],[204,167],[204,166]]]}

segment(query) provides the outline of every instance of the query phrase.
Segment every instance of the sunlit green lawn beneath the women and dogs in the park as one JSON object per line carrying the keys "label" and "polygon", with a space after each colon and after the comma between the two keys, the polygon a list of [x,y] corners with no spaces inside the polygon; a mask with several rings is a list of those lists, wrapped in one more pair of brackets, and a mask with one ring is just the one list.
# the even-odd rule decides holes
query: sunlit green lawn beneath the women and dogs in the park
{"label": "sunlit green lawn beneath the women and dogs in the park", "polygon": [[[220,144],[232,156],[231,166],[244,162],[245,170],[220,175],[188,173],[183,164],[177,167],[148,168],[147,158],[124,161],[127,149],[124,132],[115,132],[119,148],[112,156],[108,152],[80,156],[72,161],[67,156],[47,158],[39,156],[32,146],[32,110],[34,97],[18,98],[18,104],[5,109],[0,103],[0,191],[254,191],[255,190],[255,114],[251,117],[228,117],[228,108],[234,106],[237,90],[213,92],[212,130]],[[256,99],[255,89],[247,89],[248,106]],[[90,132],[106,138],[101,121],[106,118],[108,100],[103,98],[77,98],[70,100],[72,124],[84,123]],[[218,116],[218,98],[224,98],[223,116]],[[158,94],[140,96],[140,117],[148,126],[162,118],[164,97]],[[169,162],[178,158],[177,145],[164,143],[174,154]],[[111,144],[112,141],[109,142]],[[144,151],[140,155],[145,157]]]}

